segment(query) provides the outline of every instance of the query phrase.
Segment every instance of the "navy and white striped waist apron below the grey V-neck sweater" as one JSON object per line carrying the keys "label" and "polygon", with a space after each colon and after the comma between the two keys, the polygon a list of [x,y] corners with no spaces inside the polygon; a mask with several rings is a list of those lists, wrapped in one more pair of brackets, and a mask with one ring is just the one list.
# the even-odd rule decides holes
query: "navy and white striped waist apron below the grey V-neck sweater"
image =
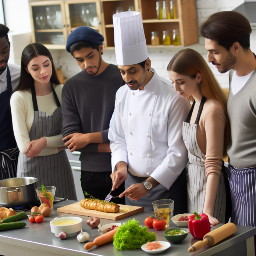
{"label": "navy and white striped waist apron below the grey V-neck sweater", "polygon": [[236,225],[256,227],[256,167],[237,169],[228,166],[232,215]]}

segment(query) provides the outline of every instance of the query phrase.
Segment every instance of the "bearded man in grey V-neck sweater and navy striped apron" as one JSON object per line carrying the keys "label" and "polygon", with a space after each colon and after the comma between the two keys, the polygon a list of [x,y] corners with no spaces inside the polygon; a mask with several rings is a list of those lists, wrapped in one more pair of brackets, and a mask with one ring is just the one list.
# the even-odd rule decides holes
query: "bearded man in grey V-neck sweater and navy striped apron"
{"label": "bearded man in grey V-neck sweater and navy striped apron", "polygon": [[234,11],[212,14],[200,26],[208,62],[221,73],[230,71],[227,152],[231,222],[256,227],[256,55],[250,50],[250,33],[248,19]]}

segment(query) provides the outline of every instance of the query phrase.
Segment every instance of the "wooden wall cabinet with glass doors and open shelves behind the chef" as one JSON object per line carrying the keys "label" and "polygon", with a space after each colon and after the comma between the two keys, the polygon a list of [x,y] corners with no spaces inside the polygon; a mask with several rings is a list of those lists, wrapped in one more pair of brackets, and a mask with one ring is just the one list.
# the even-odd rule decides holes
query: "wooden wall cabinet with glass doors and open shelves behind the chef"
{"label": "wooden wall cabinet with glass doors and open shelves behind the chef", "polygon": [[[36,0],[35,0],[36,1]],[[172,37],[173,29],[179,29],[181,47],[198,43],[198,27],[196,17],[196,0],[174,0],[176,7],[176,19],[157,19],[156,2],[157,0],[53,0],[53,1],[36,1],[29,3],[32,24],[32,42],[49,41],[51,33],[63,35],[66,43],[68,35],[79,26],[86,26],[85,20],[82,19],[82,7],[93,6],[94,15],[99,20],[98,27],[92,27],[104,36],[104,48],[113,49],[114,47],[114,26],[113,14],[117,7],[122,7],[128,11],[130,6],[139,11],[142,16],[143,28],[148,47],[179,47],[163,45],[163,31],[168,30]],[[63,28],[49,29],[46,25],[44,29],[39,29],[36,25],[36,15],[46,8],[58,8],[61,10]],[[96,11],[95,11],[96,10]],[[151,45],[151,32],[159,32],[160,45]],[[44,34],[45,33],[45,34]],[[48,34],[47,34],[48,33]],[[54,34],[53,34],[54,35]],[[53,45],[44,43],[49,49],[65,49],[65,45]]]}

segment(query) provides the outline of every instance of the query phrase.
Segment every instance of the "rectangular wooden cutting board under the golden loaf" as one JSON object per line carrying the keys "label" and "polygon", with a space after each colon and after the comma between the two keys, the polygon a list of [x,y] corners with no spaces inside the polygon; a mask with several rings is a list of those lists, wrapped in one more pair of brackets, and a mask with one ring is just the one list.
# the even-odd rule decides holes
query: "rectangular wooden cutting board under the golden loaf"
{"label": "rectangular wooden cutting board under the golden loaf", "polygon": [[60,213],[71,213],[71,214],[77,214],[82,216],[90,216],[90,217],[98,217],[98,218],[106,218],[109,220],[121,220],[123,218],[132,216],[136,213],[140,213],[141,211],[144,211],[144,207],[138,207],[138,206],[130,206],[130,205],[120,205],[120,208],[126,208],[128,207],[129,211],[121,212],[118,211],[117,213],[104,213],[102,211],[96,211],[96,210],[88,210],[81,207],[80,202],[72,203],[72,205],[63,206],[57,209]]}

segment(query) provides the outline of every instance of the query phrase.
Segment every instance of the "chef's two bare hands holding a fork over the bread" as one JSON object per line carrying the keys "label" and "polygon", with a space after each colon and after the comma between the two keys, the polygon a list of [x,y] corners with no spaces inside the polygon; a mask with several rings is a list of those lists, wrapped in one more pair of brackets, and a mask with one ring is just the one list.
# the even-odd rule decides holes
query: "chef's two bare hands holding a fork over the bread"
{"label": "chef's two bare hands holding a fork over the bread", "polygon": [[[114,173],[112,173],[110,177],[112,178],[112,181],[113,181],[112,191],[114,191],[127,178],[127,164],[125,162],[117,163],[116,171],[114,171]],[[147,178],[146,181],[149,181],[152,184],[152,188],[159,185],[159,182],[157,182],[152,177]],[[131,185],[124,192],[122,192],[119,197],[122,198],[123,196],[126,196],[131,200],[137,201],[141,197],[146,196],[147,193],[148,191],[145,188],[144,184],[138,183],[138,184]]]}

